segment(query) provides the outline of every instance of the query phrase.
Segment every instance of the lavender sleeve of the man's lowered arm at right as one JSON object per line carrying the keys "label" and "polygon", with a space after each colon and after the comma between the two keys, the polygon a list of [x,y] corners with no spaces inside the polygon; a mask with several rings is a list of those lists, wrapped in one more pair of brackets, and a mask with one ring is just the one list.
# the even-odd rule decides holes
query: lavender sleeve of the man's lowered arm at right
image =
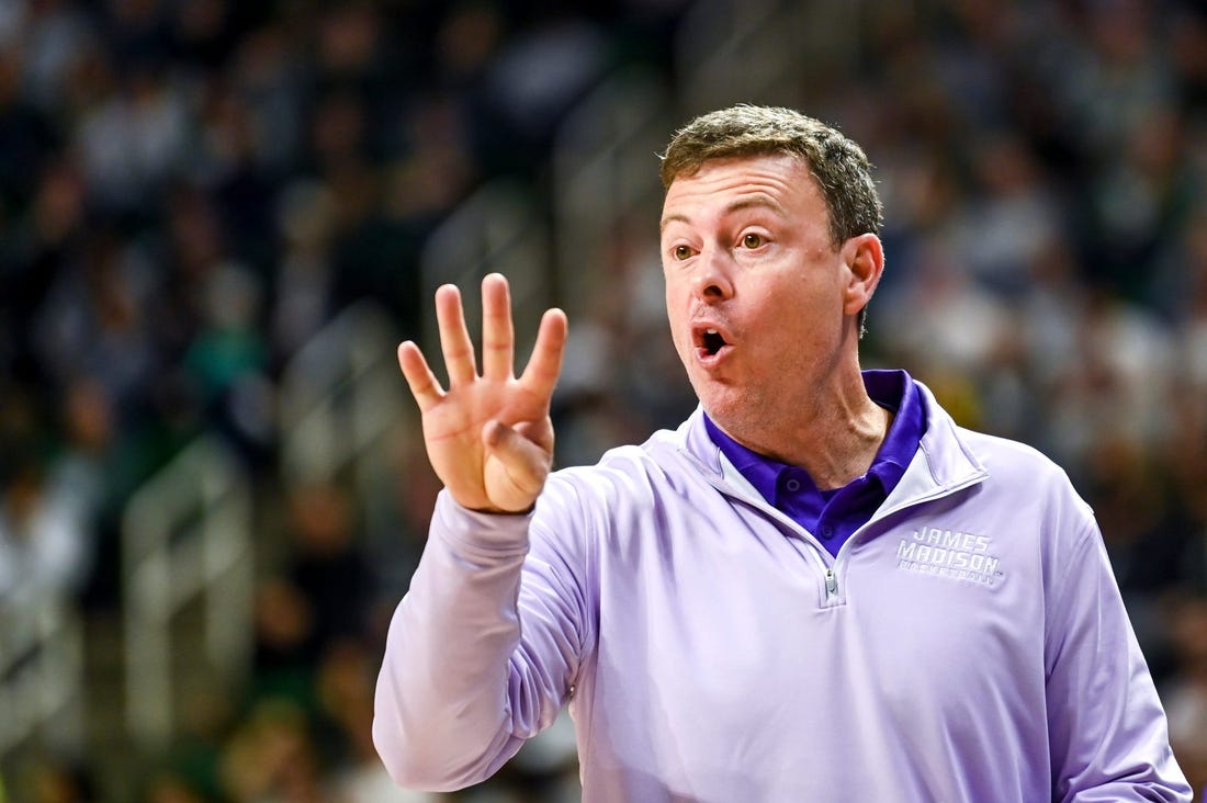
{"label": "lavender sleeve of the man's lowered arm at right", "polygon": [[1085,519],[1050,597],[1045,640],[1053,801],[1186,801],[1165,711],[1102,535]]}

